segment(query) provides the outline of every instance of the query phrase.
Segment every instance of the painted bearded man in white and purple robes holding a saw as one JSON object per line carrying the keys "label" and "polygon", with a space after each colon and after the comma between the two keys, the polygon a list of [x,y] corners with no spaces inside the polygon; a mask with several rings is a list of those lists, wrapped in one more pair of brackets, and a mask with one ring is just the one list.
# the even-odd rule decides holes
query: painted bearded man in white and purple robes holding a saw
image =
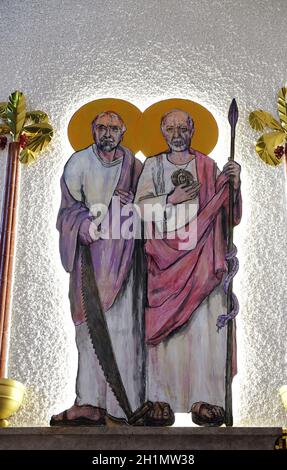
{"label": "painted bearded man in white and purple robes holding a saw", "polygon": [[[92,128],[95,143],[71,156],[61,179],[57,228],[62,264],[70,273],[69,298],[79,361],[75,403],[52,417],[50,424],[54,426],[103,425],[107,415],[126,418],[89,336],[82,302],[82,245],[90,248],[102,308],[132,409],[144,400],[141,242],[122,236],[124,222],[114,212],[114,208],[117,212],[133,202],[142,164],[120,145],[125,126],[119,115],[101,113]],[[114,197],[120,207],[113,206]],[[104,227],[111,233],[104,233]],[[116,238],[115,228],[119,230]]]}

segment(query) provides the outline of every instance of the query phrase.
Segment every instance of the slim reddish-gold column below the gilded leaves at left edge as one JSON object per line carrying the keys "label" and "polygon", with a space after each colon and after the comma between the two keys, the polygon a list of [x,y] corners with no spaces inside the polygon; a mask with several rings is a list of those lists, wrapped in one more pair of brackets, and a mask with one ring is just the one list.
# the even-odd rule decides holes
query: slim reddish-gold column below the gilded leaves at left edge
{"label": "slim reddish-gold column below the gilded leaves at left edge", "polygon": [[9,144],[1,232],[0,378],[5,377],[8,355],[8,331],[10,325],[10,303],[20,173],[19,151],[19,142],[11,142]]}

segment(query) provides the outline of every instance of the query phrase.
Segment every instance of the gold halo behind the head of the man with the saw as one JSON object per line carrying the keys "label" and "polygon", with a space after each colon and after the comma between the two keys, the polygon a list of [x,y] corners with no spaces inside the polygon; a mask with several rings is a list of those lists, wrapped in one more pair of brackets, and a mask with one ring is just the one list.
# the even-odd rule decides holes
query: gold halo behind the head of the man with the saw
{"label": "gold halo behind the head of the man with the saw", "polygon": [[142,113],[128,101],[116,98],[90,101],[73,114],[68,125],[68,138],[73,149],[81,150],[94,142],[91,124],[93,119],[104,111],[114,111],[121,116],[127,129],[122,144],[136,153],[139,150],[139,126]]}

